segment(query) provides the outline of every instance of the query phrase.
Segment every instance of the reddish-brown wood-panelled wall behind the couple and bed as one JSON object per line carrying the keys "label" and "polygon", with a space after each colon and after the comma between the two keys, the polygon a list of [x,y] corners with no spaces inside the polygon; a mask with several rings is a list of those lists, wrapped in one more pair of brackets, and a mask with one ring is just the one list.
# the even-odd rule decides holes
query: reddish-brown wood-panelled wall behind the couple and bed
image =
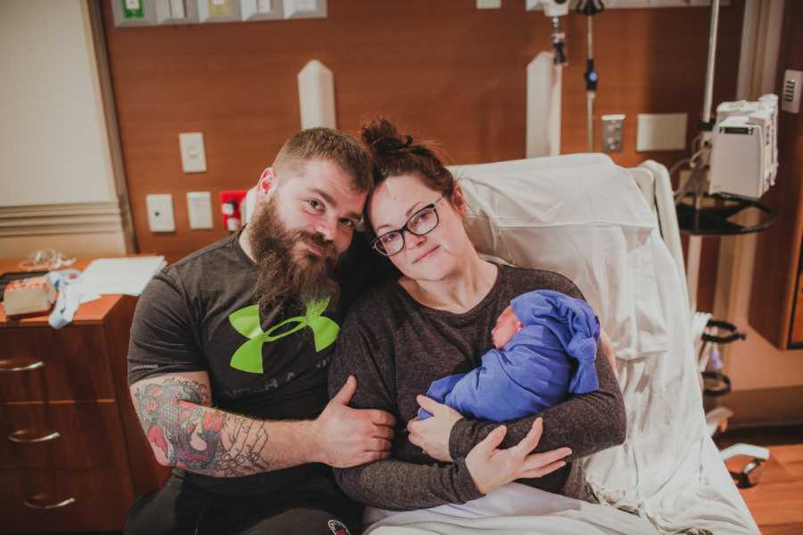
{"label": "reddish-brown wood-panelled wall behind the couple and bed", "polygon": [[[450,163],[525,156],[526,64],[551,28],[523,0],[476,10],[475,0],[329,0],[328,18],[116,29],[103,2],[128,191],[140,251],[178,259],[225,235],[190,230],[188,191],[245,188],[300,128],[296,75],[311,59],[335,73],[339,128],[383,114],[436,140]],[[732,100],[743,0],[722,8],[714,102]],[[625,166],[671,165],[683,152],[635,152],[636,114],[702,107],[706,8],[608,10],[594,19],[596,114],[625,113]],[[567,17],[562,152],[585,152],[585,18]],[[208,172],[185,175],[178,133],[202,131]],[[172,193],[177,232],[147,229],[145,194]],[[700,305],[713,301],[716,240],[707,240]]]}

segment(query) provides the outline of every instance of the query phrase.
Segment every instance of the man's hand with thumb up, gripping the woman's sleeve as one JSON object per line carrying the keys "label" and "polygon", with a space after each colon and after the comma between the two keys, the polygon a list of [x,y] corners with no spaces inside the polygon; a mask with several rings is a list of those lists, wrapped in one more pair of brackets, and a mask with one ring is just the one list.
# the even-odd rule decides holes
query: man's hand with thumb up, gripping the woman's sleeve
{"label": "man's hand with thumb up, gripping the woman's sleeve", "polygon": [[357,380],[349,375],[344,387],[312,422],[315,460],[349,468],[390,457],[393,416],[383,410],[350,408]]}

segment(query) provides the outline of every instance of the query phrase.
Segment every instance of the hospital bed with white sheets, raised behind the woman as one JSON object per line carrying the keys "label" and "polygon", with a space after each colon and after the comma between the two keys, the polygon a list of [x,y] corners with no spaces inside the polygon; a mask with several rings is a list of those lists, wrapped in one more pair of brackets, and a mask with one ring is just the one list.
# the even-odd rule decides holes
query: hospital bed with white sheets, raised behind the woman
{"label": "hospital bed with white sheets, raised behind the woman", "polygon": [[366,533],[757,533],[708,433],[666,168],[603,154],[454,166],[477,250],[549,269],[610,336],[625,443],[584,459],[600,505],[511,483],[460,506],[368,508]]}

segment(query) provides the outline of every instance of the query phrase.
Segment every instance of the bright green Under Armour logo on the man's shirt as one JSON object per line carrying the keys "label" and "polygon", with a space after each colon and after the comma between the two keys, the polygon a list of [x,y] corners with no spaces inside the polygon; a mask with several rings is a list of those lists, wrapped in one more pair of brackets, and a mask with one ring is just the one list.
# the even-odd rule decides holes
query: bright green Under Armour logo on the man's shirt
{"label": "bright green Under Armour logo on the man's shirt", "polygon": [[[335,340],[337,340],[337,333],[340,332],[339,325],[328,317],[321,316],[328,305],[328,299],[312,301],[307,304],[307,311],[303,316],[288,317],[280,324],[270,327],[267,333],[263,332],[260,326],[259,305],[252,305],[232,312],[228,316],[229,323],[235,328],[237,333],[242,334],[249,340],[237,348],[231,358],[230,366],[243,372],[248,372],[249,374],[261,374],[262,344],[289,336],[296,331],[302,330],[304,327],[310,327],[310,329],[312,329],[312,336],[315,339],[315,350],[325,350],[335,343]],[[292,329],[284,333],[273,334],[283,326],[292,323],[297,323],[298,325],[295,325]]]}

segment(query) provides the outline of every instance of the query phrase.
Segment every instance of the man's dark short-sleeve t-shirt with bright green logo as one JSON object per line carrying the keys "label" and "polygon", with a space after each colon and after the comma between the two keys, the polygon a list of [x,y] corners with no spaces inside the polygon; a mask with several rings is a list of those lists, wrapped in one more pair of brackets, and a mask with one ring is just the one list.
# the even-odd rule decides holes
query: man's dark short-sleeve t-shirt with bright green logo
{"label": "man's dark short-sleeve t-shirt with bright green logo", "polygon": [[[204,371],[213,407],[269,420],[314,418],[328,402],[327,366],[343,308],[334,314],[283,309],[266,325],[269,313],[258,311],[253,296],[256,265],[238,236],[179,260],[147,285],[131,328],[128,383]],[[324,465],[237,478],[180,475],[206,490],[244,495],[284,489],[321,474],[331,477]]]}

